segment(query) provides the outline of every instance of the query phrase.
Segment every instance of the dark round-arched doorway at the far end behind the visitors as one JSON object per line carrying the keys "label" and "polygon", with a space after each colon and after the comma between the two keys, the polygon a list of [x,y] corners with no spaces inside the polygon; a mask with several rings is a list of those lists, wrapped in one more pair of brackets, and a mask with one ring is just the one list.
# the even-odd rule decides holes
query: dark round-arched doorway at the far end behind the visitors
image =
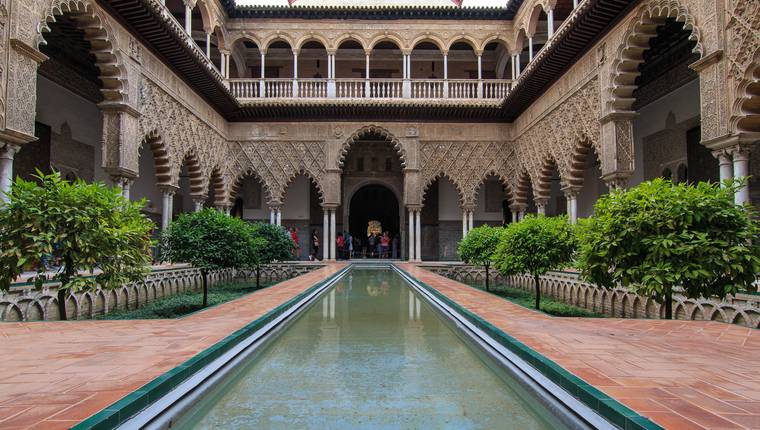
{"label": "dark round-arched doorway at the far end behind the visitors", "polygon": [[[370,184],[359,188],[351,197],[348,212],[349,232],[361,240],[362,252],[367,256],[376,253],[367,249],[369,234],[388,232],[391,238],[399,237],[401,220],[399,202],[393,191],[380,184]],[[396,242],[396,258],[400,257],[401,241]],[[354,249],[354,252],[359,250]],[[391,249],[391,257],[393,252]]]}

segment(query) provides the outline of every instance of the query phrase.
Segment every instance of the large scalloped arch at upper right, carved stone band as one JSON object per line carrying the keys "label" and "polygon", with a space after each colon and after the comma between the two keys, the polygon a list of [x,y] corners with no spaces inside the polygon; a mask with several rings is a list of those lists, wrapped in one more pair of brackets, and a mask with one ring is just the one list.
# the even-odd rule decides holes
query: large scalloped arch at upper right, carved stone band
{"label": "large scalloped arch at upper right, carved stone band", "polygon": [[649,48],[649,40],[657,35],[657,27],[666,19],[673,18],[684,24],[691,32],[689,39],[696,42],[694,52],[704,54],[702,38],[694,16],[678,0],[650,0],[630,22],[612,62],[609,105],[612,111],[633,109],[636,78],[641,74],[639,64],[644,61],[644,51]]}

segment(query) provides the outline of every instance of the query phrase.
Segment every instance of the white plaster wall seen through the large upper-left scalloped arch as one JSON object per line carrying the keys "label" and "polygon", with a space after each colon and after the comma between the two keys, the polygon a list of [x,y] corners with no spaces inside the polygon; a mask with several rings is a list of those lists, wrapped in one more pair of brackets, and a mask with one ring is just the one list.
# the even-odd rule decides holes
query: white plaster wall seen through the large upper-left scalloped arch
{"label": "white plaster wall seen through the large upper-left scalloped arch", "polygon": [[[34,77],[30,77],[34,79]],[[103,151],[101,138],[103,118],[95,103],[86,100],[62,86],[37,75],[37,117],[36,121],[49,125],[53,133],[61,133],[66,123],[71,128],[71,137],[94,148],[94,179],[111,185],[111,178],[103,171]]]}

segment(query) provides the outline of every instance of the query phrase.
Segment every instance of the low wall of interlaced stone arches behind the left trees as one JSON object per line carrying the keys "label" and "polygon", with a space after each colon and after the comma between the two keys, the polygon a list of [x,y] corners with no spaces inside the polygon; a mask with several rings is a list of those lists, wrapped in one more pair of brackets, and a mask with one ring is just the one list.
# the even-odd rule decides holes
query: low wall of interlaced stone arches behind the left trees
{"label": "low wall of interlaced stone arches behind the left trees", "polygon": [[[285,262],[266,266],[262,282],[275,282],[302,275],[321,264]],[[209,274],[209,286],[234,280],[248,280],[247,272],[220,270]],[[202,288],[199,269],[186,264],[154,266],[143,282],[123,285],[115,289],[80,291],[70,294],[66,302],[69,319],[89,319],[113,310],[137,309],[146,303],[187,291]],[[35,289],[20,282],[9,291],[0,292],[0,321],[52,321],[58,319],[58,289],[56,284]]]}

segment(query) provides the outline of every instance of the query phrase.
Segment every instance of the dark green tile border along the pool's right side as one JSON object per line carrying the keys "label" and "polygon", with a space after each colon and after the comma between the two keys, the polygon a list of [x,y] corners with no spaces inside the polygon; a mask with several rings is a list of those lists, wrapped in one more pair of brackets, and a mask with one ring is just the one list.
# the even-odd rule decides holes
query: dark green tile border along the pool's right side
{"label": "dark green tile border along the pool's right side", "polygon": [[647,417],[639,415],[637,412],[611,398],[610,396],[604,394],[593,385],[588,384],[583,379],[568,372],[554,361],[544,357],[529,346],[506,334],[504,331],[481,318],[477,314],[465,309],[459,303],[448,298],[446,295],[431,287],[430,285],[420,281],[406,270],[398,267],[398,265],[394,266],[409,278],[414,279],[415,282],[425,288],[429,293],[433,294],[436,298],[443,301],[451,308],[455,309],[470,323],[483,330],[494,340],[499,342],[499,344],[509,349],[521,359],[525,360],[528,364],[541,372],[541,374],[543,374],[545,377],[549,378],[552,382],[564,388],[573,397],[580,400],[583,404],[599,413],[599,415],[606,418],[609,422],[624,430],[663,429],[663,427],[654,423]]}

